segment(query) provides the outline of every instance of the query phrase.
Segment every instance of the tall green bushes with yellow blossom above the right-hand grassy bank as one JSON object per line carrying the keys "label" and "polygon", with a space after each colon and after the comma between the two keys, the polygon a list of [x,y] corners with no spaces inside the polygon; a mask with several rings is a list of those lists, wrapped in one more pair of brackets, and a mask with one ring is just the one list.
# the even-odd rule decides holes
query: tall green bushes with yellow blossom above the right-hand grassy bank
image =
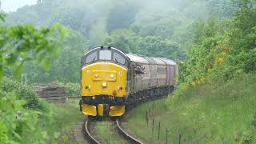
{"label": "tall green bushes with yellow blossom above the right-hand grassy bank", "polygon": [[200,82],[256,70],[256,7],[254,1],[240,1],[230,21],[210,18],[194,22],[193,48],[182,64],[181,82]]}

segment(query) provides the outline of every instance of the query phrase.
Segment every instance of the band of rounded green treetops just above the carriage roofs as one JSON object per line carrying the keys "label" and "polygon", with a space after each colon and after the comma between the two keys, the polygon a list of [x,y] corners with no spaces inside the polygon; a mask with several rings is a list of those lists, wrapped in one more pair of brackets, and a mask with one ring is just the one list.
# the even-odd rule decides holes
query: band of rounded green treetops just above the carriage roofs
{"label": "band of rounded green treetops just above the carriage roofs", "polygon": [[151,57],[184,59],[177,42],[159,36],[141,37],[130,30],[116,30],[103,39],[107,46],[120,47],[122,51]]}

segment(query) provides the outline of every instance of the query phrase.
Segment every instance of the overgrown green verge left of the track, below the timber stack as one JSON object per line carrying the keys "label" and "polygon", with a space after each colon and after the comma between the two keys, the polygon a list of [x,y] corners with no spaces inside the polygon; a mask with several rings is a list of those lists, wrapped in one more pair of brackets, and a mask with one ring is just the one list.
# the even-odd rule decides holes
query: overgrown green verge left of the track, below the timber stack
{"label": "overgrown green verge left of the track, below the timber stack", "polygon": [[70,143],[78,109],[38,99],[29,86],[4,78],[0,90],[0,142]]}

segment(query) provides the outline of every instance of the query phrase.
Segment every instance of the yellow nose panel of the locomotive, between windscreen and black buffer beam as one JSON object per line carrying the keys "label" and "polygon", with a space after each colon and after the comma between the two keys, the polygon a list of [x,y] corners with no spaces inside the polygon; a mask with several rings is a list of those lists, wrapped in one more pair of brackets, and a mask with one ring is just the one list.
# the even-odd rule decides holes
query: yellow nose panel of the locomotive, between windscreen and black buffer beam
{"label": "yellow nose panel of the locomotive, between windscreen and black buffer beam", "polygon": [[84,96],[126,96],[126,68],[110,62],[98,62],[86,66],[82,73]]}

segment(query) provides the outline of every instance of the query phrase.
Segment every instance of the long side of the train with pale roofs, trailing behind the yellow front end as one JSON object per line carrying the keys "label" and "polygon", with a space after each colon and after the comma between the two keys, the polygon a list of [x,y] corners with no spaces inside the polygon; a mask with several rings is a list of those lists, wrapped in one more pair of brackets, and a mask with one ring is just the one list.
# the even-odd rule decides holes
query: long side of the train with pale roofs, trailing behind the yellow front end
{"label": "long side of the train with pale roofs, trailing behind the yellow front end", "polygon": [[177,64],[165,58],[148,58],[126,54],[130,59],[128,103],[139,99],[160,97],[174,90],[178,75]]}

